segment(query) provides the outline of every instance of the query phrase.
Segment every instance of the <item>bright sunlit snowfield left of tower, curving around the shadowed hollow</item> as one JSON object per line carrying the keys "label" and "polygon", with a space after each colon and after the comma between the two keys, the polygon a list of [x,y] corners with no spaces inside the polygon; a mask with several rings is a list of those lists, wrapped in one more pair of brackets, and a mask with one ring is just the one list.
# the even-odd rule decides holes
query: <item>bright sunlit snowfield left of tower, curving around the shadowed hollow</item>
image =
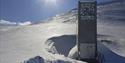
{"label": "bright sunlit snowfield left of tower, curving around the shadowed hollow", "polygon": [[52,54],[47,51],[51,46],[45,45],[50,37],[75,34],[74,27],[76,24],[63,23],[5,27],[6,30],[0,30],[0,63],[20,63],[36,56],[50,62],[61,60],[84,63],[62,54]]}

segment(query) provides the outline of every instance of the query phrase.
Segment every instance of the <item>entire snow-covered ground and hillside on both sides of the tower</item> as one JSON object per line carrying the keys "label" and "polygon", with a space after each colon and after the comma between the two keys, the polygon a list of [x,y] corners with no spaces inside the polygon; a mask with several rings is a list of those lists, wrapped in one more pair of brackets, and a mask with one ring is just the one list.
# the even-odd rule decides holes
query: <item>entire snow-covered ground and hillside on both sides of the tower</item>
{"label": "entire snow-covered ground and hillside on both sides of the tower", "polygon": [[[125,62],[123,5],[98,6],[98,47],[105,63]],[[76,12],[57,15],[47,23],[0,26],[0,63],[85,63],[67,57],[75,46]]]}

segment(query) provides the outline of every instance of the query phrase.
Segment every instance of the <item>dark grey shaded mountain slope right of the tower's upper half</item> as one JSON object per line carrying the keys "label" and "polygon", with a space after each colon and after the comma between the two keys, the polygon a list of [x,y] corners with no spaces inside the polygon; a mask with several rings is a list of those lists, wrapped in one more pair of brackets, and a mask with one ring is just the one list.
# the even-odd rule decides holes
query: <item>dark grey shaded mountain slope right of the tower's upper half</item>
{"label": "dark grey shaded mountain slope right of the tower's upper half", "polygon": [[97,8],[98,22],[107,25],[124,25],[125,23],[125,1],[112,2],[100,5]]}

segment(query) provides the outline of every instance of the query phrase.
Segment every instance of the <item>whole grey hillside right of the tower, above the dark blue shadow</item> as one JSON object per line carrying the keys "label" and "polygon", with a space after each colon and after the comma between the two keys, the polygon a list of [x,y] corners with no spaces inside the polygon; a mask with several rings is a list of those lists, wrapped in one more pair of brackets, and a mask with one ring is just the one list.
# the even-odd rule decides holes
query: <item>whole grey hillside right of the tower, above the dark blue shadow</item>
{"label": "whole grey hillside right of the tower, above the dark blue shadow", "polygon": [[98,34],[112,37],[103,37],[113,42],[106,44],[109,49],[125,57],[125,1],[98,6]]}

